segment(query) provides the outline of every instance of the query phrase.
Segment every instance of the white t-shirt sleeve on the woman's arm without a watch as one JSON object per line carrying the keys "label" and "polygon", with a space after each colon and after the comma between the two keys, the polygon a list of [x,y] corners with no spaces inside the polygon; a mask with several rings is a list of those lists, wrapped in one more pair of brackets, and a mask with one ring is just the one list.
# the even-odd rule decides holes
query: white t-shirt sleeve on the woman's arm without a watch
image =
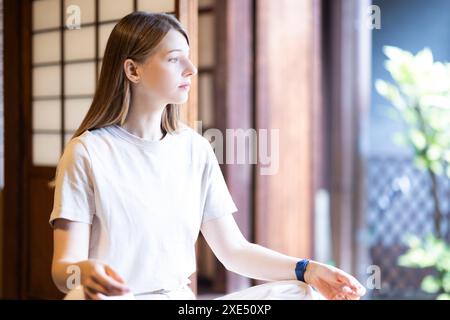
{"label": "white t-shirt sleeve on the woman's arm without a watch", "polygon": [[91,224],[95,213],[91,162],[84,144],[74,139],[66,146],[56,170],[50,225],[64,218]]}

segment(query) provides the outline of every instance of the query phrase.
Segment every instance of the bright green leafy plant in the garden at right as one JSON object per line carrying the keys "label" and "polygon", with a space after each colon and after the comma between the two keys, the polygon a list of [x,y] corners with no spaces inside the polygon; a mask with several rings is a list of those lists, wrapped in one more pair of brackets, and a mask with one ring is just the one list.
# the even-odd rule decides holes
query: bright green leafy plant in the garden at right
{"label": "bright green leafy plant in the garden at right", "polygon": [[450,298],[449,247],[442,234],[439,176],[450,177],[450,64],[435,62],[429,49],[413,55],[385,47],[386,69],[394,83],[377,80],[377,92],[390,101],[407,125],[401,141],[412,147],[414,161],[431,180],[434,235],[421,241],[409,238],[409,250],[399,263],[413,268],[433,267],[439,276],[422,281],[426,292]]}

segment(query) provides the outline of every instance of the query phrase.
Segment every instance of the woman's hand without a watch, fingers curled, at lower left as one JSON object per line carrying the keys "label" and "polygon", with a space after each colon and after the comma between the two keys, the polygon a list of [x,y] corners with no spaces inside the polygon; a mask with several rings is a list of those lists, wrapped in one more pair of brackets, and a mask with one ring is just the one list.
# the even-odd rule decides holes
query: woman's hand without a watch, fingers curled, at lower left
{"label": "woman's hand without a watch, fingers curled, at lower left", "polygon": [[79,266],[87,300],[103,300],[107,296],[120,296],[130,292],[125,281],[107,264],[98,260],[86,260]]}

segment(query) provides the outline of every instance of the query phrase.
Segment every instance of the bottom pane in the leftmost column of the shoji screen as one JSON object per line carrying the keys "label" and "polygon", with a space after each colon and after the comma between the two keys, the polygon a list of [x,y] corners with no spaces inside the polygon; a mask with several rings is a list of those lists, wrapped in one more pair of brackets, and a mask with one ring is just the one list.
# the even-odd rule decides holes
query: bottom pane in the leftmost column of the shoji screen
{"label": "bottom pane in the leftmost column of the shoji screen", "polygon": [[33,134],[33,164],[56,166],[61,155],[60,134]]}

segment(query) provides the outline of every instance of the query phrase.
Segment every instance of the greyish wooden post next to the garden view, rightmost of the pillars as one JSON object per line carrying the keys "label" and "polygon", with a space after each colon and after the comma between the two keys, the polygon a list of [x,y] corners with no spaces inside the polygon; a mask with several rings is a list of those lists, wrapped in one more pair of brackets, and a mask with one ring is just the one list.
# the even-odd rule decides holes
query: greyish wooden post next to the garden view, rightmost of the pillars
{"label": "greyish wooden post next to the garden view, rightmost of the pillars", "polygon": [[[367,253],[358,239],[364,221],[365,128],[370,105],[371,1],[328,0],[325,12],[331,114],[331,210],[333,255],[338,267],[363,276],[357,265]],[[362,260],[361,260],[362,259]],[[358,261],[360,262],[358,264]]]}

